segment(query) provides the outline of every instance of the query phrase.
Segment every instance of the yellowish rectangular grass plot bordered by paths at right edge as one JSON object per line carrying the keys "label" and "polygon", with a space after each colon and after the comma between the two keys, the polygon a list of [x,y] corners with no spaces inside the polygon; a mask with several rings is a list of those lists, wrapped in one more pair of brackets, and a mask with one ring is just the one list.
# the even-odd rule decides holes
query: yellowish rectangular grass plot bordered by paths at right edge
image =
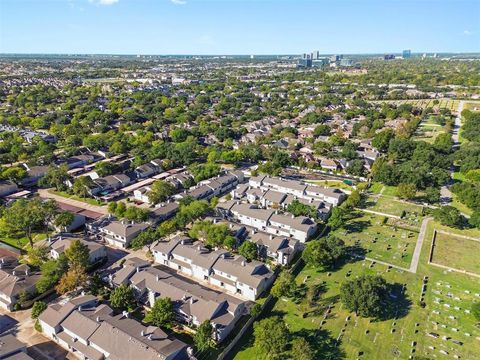
{"label": "yellowish rectangular grass plot bordered by paths at right edge", "polygon": [[437,233],[432,262],[480,275],[480,241]]}

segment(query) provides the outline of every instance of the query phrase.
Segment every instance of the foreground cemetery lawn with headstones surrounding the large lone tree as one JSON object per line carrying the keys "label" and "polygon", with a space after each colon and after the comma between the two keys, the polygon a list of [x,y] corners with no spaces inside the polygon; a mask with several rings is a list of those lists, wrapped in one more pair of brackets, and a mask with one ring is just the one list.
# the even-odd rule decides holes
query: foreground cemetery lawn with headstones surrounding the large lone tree
{"label": "foreground cemetery lawn with headstones surrounding the large lone tree", "polygon": [[[296,277],[297,284],[321,286],[319,305],[306,310],[302,301],[279,299],[269,316],[282,317],[294,335],[317,334],[318,343],[323,340],[330,344],[326,351],[331,359],[408,359],[411,354],[431,359],[477,359],[480,329],[470,307],[480,301],[480,280],[427,263],[435,228],[438,224],[431,221],[417,274],[366,260],[348,262],[331,274],[306,267]],[[371,321],[343,308],[338,300],[341,283],[361,274],[379,274],[391,284],[405,285],[406,298],[394,308],[396,316]],[[332,308],[326,314],[329,304]],[[262,358],[252,337],[245,338],[238,350],[235,359]]]}

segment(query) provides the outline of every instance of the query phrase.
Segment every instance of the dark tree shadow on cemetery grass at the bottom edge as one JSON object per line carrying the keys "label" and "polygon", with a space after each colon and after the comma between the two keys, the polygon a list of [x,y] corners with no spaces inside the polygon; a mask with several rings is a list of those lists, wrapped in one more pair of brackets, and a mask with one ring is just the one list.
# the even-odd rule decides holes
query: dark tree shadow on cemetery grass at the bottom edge
{"label": "dark tree shadow on cemetery grass at the bottom edge", "polygon": [[292,333],[292,338],[296,337],[303,338],[310,344],[314,352],[314,359],[340,360],[346,358],[345,352],[340,348],[340,342],[337,342],[328,330],[302,329]]}

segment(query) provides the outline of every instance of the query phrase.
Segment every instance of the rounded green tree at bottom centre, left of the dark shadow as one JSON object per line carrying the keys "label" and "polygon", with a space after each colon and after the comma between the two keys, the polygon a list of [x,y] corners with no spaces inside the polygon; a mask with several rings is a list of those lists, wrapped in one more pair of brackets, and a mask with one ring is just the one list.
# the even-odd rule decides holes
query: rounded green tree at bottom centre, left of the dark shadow
{"label": "rounded green tree at bottom centre, left of the dark shadow", "polygon": [[278,317],[269,317],[253,325],[255,347],[268,358],[274,359],[287,349],[290,333],[285,321]]}

